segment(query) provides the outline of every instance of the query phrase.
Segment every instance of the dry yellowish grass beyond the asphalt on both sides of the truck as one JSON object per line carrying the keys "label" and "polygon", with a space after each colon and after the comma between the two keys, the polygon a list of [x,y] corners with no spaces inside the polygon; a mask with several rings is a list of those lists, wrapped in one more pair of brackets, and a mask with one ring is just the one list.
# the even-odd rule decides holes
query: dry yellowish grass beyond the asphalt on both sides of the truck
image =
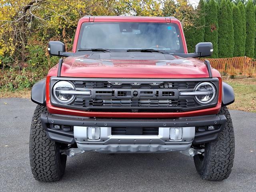
{"label": "dry yellowish grass beyond the asphalt on both sides of the truck", "polygon": [[[234,88],[235,102],[228,106],[230,109],[256,112],[256,78],[223,78],[223,81]],[[0,98],[20,97],[30,98],[30,89],[4,90],[0,89]]]}

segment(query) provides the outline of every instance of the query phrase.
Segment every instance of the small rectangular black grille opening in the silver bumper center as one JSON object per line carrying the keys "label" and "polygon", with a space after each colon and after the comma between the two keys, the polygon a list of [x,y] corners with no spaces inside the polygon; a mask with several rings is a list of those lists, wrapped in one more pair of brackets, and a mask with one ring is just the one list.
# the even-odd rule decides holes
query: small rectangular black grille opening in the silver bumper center
{"label": "small rectangular black grille opening in the silver bumper center", "polygon": [[128,127],[112,127],[112,135],[158,135],[158,127],[138,127],[138,128],[128,128]]}

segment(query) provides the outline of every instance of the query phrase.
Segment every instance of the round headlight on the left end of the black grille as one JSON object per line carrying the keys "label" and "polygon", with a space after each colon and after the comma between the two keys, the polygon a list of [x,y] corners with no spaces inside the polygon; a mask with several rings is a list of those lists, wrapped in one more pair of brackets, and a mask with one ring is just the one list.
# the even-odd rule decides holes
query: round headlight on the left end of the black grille
{"label": "round headlight on the left end of the black grille", "polygon": [[60,103],[69,103],[74,98],[72,91],[75,87],[72,83],[68,81],[58,81],[52,89],[54,99]]}

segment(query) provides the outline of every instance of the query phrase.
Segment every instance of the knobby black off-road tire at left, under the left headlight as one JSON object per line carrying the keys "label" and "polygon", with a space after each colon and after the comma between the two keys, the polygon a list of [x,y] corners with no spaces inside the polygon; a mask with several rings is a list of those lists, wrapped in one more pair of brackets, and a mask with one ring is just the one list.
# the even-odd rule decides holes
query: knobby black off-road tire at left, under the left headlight
{"label": "knobby black off-road tire at left, under the left headlight", "polygon": [[36,106],[30,128],[30,166],[36,180],[54,182],[62,178],[66,168],[67,156],[60,154],[60,148],[63,145],[46,137],[40,119],[42,113],[47,113],[46,107]]}

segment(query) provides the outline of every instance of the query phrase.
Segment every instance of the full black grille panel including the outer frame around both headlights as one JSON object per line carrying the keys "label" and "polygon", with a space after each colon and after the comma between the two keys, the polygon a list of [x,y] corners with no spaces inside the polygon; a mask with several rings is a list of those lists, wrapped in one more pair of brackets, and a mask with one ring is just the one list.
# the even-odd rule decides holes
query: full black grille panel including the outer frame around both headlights
{"label": "full black grille panel including the outer frame around both headlights", "polygon": [[[216,79],[67,79],[76,90],[89,90],[91,95],[76,95],[68,105],[51,99],[54,106],[88,112],[185,112],[216,106],[218,102],[216,97],[206,106],[194,96],[180,96],[181,91],[194,91],[202,81],[212,82],[218,89]],[[52,81],[51,86],[56,80]]]}

